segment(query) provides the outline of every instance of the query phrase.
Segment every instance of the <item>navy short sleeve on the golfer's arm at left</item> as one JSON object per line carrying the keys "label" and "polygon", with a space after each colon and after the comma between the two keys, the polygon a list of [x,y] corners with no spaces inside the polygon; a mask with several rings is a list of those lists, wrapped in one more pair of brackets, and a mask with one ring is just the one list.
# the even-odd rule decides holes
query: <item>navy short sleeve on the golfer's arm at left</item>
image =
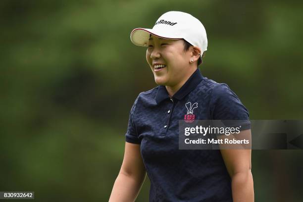
{"label": "navy short sleeve on the golfer's arm at left", "polygon": [[[138,98],[139,98],[139,96],[138,96]],[[134,104],[131,108],[131,111],[129,113],[128,127],[127,127],[127,131],[126,131],[126,134],[125,134],[125,141],[128,142],[128,143],[134,143],[134,144],[141,144],[141,141],[138,138],[136,125],[135,125],[135,122],[134,122],[134,117],[135,117],[135,111],[136,111],[138,98],[135,100],[135,102],[134,102]]]}

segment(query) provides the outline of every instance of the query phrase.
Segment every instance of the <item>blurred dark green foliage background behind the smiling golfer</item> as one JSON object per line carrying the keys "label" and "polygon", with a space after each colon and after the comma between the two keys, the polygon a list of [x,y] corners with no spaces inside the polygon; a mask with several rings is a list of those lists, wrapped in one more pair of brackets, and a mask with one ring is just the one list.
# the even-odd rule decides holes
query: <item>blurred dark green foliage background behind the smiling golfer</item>
{"label": "blurred dark green foliage background behind the smiling golfer", "polygon": [[[108,201],[131,106],[156,86],[130,32],[169,10],[202,21],[202,74],[251,119],[303,119],[302,1],[1,0],[0,191]],[[301,202],[302,157],[253,151],[255,201]],[[147,178],[137,202],[148,197]]]}

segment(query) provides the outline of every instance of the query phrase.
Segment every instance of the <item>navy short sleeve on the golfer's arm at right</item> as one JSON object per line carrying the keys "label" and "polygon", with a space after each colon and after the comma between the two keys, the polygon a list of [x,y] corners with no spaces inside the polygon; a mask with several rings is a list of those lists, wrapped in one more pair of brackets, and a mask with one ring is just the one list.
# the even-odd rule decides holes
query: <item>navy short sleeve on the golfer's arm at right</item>
{"label": "navy short sleeve on the golfer's arm at right", "polygon": [[213,120],[243,120],[242,130],[251,128],[247,108],[226,84],[213,88],[210,112]]}

